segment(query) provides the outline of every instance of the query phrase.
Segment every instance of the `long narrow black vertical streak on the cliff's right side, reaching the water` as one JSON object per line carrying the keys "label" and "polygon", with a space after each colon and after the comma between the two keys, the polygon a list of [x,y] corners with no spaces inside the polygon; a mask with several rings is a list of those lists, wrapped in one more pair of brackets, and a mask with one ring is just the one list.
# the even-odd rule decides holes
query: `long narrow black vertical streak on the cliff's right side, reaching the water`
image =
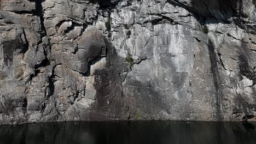
{"label": "long narrow black vertical streak on the cliff's right side, reaching the water", "polygon": [[218,121],[223,120],[223,107],[222,107],[222,100],[223,100],[223,92],[222,92],[222,87],[220,85],[220,76],[219,76],[219,71],[218,71],[218,59],[216,52],[214,51],[213,43],[211,40],[208,40],[208,50],[209,50],[209,55],[210,55],[210,61],[211,61],[211,73],[213,76],[213,84],[214,84],[214,89],[216,90],[214,93],[216,97],[216,118]]}

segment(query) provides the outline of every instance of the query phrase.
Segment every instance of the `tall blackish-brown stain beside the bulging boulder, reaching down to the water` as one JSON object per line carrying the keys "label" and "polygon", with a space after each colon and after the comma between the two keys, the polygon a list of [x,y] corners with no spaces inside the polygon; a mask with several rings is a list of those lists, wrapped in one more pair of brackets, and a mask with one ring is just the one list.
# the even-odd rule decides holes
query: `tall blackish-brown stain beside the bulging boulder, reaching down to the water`
{"label": "tall blackish-brown stain beside the bulging boulder, reaching down to the water", "polygon": [[[90,119],[106,120],[118,119],[121,117],[123,107],[123,88],[119,72],[123,69],[117,56],[117,52],[110,43],[106,43],[106,68],[95,70],[94,87],[96,89],[96,101],[92,104],[93,111],[90,113]],[[110,67],[114,63],[114,67]]]}

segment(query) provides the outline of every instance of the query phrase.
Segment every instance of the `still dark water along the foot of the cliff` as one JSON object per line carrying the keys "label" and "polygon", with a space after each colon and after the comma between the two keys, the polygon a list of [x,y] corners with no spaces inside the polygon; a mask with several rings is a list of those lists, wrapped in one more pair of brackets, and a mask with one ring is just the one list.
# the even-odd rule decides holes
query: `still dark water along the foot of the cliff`
{"label": "still dark water along the foot of the cliff", "polygon": [[256,123],[67,122],[0,126],[0,143],[256,143]]}

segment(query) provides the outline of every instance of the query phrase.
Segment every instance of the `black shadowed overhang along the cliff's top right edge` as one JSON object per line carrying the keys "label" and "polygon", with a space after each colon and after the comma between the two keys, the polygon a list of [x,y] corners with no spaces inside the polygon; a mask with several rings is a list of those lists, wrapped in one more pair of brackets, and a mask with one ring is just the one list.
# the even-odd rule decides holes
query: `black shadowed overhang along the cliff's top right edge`
{"label": "black shadowed overhang along the cliff's top right edge", "polygon": [[234,17],[237,24],[240,24],[240,17],[244,16],[241,13],[242,0],[191,0],[191,4],[179,0],[168,0],[167,2],[187,9],[201,25],[219,22],[231,23],[230,17]]}

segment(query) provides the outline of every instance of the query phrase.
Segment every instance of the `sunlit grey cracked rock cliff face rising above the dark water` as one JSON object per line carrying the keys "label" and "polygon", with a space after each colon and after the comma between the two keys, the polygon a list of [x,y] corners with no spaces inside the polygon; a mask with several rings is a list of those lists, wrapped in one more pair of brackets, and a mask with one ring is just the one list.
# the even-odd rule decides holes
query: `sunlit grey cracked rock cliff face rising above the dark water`
{"label": "sunlit grey cracked rock cliff face rising above the dark water", "polygon": [[0,0],[0,124],[256,116],[255,0]]}

